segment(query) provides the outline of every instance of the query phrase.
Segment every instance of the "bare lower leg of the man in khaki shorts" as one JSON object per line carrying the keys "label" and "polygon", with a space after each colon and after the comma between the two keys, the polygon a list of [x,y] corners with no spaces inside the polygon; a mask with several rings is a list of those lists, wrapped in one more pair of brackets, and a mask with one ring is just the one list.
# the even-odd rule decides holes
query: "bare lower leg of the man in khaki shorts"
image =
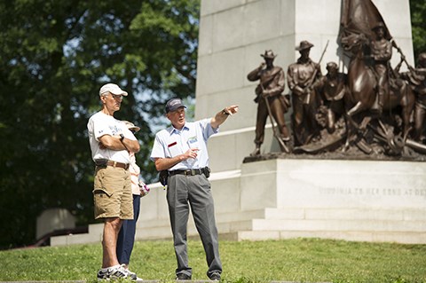
{"label": "bare lower leg of the man in khaki shorts", "polygon": [[118,232],[122,227],[120,218],[106,218],[104,223],[104,235],[102,240],[102,267],[118,265],[116,248]]}

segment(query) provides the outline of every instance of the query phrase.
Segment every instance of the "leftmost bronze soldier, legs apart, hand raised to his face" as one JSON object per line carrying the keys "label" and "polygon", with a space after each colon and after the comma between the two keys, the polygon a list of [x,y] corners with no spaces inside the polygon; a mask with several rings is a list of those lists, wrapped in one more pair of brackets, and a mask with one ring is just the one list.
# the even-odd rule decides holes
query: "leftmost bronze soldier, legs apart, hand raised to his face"
{"label": "leftmost bronze soldier, legs apart, hand raised to his face", "polygon": [[288,100],[282,95],[285,88],[285,75],[281,67],[273,66],[273,60],[277,55],[272,50],[264,51],[261,54],[264,62],[248,73],[250,82],[260,80],[256,86],[257,117],[256,117],[256,148],[250,156],[260,154],[260,146],[264,142],[264,125],[268,115],[272,116],[278,124],[279,134],[275,132],[272,122],[272,130],[279,139],[281,151],[288,152],[287,143],[289,141],[288,128],[284,119],[284,114],[288,111]]}

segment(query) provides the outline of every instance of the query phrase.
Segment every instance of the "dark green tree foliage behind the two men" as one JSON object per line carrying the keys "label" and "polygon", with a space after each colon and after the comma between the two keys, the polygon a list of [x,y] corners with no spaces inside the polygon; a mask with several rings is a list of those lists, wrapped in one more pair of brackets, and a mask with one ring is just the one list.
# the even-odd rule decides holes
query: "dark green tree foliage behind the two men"
{"label": "dark green tree foliage behind the two men", "polygon": [[198,0],[0,2],[1,248],[33,242],[46,208],[93,221],[86,124],[104,83],[130,93],[115,116],[141,127],[153,180],[164,102],[194,96],[198,13]]}

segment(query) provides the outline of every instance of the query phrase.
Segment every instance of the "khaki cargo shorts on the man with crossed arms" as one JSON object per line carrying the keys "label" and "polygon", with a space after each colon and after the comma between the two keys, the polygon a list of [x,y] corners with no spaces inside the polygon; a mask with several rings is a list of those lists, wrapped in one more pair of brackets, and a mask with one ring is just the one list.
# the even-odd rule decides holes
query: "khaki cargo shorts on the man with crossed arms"
{"label": "khaki cargo shorts on the man with crossed arms", "polygon": [[119,217],[133,219],[133,195],[129,170],[97,167],[93,189],[95,219]]}

